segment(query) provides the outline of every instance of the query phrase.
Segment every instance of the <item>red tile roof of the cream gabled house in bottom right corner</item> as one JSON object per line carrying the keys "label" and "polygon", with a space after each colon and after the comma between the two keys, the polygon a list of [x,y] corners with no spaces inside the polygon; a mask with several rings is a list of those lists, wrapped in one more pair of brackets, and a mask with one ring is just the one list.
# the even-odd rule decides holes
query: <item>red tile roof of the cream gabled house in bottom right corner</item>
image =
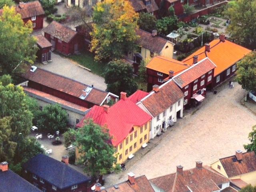
{"label": "red tile roof of the cream gabled house in bottom right corner", "polygon": [[243,153],[242,161],[237,161],[236,156],[233,155],[221,158],[220,162],[229,178],[256,171],[256,155],[254,152]]}

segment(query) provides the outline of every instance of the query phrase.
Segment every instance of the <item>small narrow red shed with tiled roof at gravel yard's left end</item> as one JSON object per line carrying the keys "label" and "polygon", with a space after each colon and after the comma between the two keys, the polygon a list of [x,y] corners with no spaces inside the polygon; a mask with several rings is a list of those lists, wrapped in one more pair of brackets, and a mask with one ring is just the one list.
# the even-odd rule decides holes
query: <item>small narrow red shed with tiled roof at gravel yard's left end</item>
{"label": "small narrow red shed with tiled roof at gravel yard's left end", "polygon": [[38,62],[50,62],[52,44],[42,34],[36,35],[36,44],[39,50],[36,52]]}

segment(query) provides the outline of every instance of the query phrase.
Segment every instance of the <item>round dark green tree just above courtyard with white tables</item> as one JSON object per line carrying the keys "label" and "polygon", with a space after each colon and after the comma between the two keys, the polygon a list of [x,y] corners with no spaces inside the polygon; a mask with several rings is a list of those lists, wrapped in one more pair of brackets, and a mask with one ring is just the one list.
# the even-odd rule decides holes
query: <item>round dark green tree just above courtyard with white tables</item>
{"label": "round dark green tree just above courtyard with white tables", "polygon": [[37,113],[36,124],[44,132],[65,132],[68,126],[68,114],[58,104],[46,105]]}

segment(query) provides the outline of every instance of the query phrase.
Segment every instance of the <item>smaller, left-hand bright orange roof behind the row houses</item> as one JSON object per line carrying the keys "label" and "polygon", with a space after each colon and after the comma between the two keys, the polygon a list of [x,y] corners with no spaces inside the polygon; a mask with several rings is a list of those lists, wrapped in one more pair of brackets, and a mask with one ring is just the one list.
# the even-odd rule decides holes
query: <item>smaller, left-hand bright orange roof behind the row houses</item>
{"label": "smaller, left-hand bright orange roof behind the row houses", "polygon": [[184,62],[171,59],[164,56],[156,56],[150,60],[146,68],[152,69],[155,71],[159,71],[161,73],[169,75],[169,71],[174,71],[174,75],[178,74],[179,72],[187,69],[189,65],[185,64]]}

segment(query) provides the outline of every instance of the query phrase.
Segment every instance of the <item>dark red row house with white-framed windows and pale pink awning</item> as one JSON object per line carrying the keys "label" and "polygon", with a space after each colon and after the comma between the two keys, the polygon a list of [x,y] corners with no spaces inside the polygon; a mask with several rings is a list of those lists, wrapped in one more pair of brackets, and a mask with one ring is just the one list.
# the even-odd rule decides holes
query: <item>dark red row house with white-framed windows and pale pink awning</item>
{"label": "dark red row house with white-framed windows and pale pink awning", "polygon": [[[184,93],[184,106],[192,102],[201,102],[206,94],[206,87],[212,83],[214,68],[216,65],[209,59],[204,58],[198,62],[194,56],[194,64],[174,76],[172,79]],[[186,106],[185,106],[186,107]]]}

